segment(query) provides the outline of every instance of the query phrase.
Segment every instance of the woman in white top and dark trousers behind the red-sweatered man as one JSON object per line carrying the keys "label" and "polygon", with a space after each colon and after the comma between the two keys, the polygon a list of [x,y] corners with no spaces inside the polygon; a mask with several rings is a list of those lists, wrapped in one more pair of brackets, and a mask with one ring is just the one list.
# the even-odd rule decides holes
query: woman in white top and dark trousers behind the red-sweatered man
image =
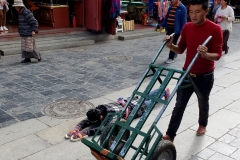
{"label": "woman in white top and dark trousers behind the red-sweatered man", "polygon": [[223,34],[223,47],[222,50],[225,51],[225,54],[228,53],[228,39],[230,32],[232,31],[232,23],[235,19],[234,11],[232,7],[229,6],[230,0],[221,0],[221,7],[218,8],[215,15],[215,22],[219,24],[222,28]]}

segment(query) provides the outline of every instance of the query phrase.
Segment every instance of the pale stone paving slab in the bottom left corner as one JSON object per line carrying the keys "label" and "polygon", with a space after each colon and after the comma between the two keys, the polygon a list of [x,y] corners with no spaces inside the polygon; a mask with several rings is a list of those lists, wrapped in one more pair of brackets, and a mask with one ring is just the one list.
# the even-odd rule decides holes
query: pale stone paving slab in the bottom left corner
{"label": "pale stone paving slab in the bottom left corner", "polygon": [[1,157],[4,160],[22,159],[50,147],[46,141],[36,135],[28,135],[0,146]]}

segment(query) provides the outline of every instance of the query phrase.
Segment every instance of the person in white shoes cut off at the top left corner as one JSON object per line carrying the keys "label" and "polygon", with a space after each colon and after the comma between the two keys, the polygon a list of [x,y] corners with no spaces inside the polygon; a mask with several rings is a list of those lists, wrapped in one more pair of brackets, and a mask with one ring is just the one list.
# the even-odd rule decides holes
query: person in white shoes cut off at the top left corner
{"label": "person in white shoes cut off at the top left corner", "polygon": [[0,31],[7,31],[6,13],[9,10],[7,0],[0,0]]}

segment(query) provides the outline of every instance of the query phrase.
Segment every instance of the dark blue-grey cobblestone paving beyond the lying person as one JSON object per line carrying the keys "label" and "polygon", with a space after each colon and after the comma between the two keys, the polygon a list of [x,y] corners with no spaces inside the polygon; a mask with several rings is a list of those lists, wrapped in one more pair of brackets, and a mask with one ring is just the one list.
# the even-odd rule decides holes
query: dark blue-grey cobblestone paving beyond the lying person
{"label": "dark blue-grey cobblestone paving beyond the lying person", "polygon": [[[239,23],[231,34],[230,53],[239,48]],[[20,55],[0,60],[0,127],[43,116],[51,102],[87,101],[137,84],[162,43],[163,35],[130,41],[42,52],[42,62],[21,64]],[[164,49],[156,63],[164,64]],[[172,68],[183,65],[179,55]],[[219,65],[224,62],[219,62]]]}

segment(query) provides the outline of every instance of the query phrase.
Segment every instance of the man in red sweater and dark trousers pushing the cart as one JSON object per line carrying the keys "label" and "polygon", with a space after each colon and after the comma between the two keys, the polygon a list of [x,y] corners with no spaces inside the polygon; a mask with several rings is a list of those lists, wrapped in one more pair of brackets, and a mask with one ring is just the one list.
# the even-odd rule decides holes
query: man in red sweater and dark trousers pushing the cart
{"label": "man in red sweater and dark trousers pushing the cart", "polygon": [[[221,28],[206,18],[207,13],[207,0],[189,0],[189,16],[191,22],[184,26],[178,45],[172,43],[172,37],[166,36],[164,38],[164,40],[168,39],[166,46],[175,53],[182,54],[187,49],[183,69],[187,69],[193,57],[196,55],[196,52],[200,54],[190,70],[190,76],[202,95],[202,97],[198,97],[198,136],[206,132],[209,115],[209,95],[214,82],[214,61],[220,59],[223,43]],[[206,47],[202,46],[201,44],[209,36],[212,36],[212,39],[208,42]],[[173,142],[180,126],[183,113],[193,92],[193,87],[179,89],[177,91],[175,108],[173,109],[168,130],[166,135],[163,136],[163,139]]]}

